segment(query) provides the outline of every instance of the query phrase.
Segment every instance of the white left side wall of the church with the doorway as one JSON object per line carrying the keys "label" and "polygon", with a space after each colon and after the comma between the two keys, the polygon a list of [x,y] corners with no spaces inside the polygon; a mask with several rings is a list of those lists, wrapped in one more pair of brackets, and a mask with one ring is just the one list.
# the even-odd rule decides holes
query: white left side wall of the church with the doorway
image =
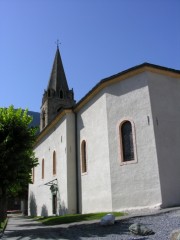
{"label": "white left side wall of the church with the doorway", "polygon": [[[35,148],[39,165],[35,168],[34,184],[29,186],[29,194],[34,194],[37,215],[42,215],[43,207],[47,209],[48,215],[52,215],[52,194],[50,187],[45,184],[55,179],[57,179],[59,189],[57,192],[57,214],[68,212],[66,129],[67,119],[64,117]],[[74,151],[73,146],[72,149]],[[56,152],[55,175],[53,175],[53,151]],[[44,179],[42,179],[42,159],[44,159]],[[31,204],[31,199],[29,204]],[[29,209],[30,211],[31,209]]]}

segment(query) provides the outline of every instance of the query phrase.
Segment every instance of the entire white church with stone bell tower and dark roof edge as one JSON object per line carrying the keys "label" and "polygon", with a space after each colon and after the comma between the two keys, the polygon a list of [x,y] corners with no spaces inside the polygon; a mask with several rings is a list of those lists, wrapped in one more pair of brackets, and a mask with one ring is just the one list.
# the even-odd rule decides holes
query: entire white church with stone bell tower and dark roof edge
{"label": "entire white church with stone bell tower and dark roof edge", "polygon": [[79,102],[60,50],[42,97],[28,213],[180,205],[180,71],[150,63],[101,80]]}

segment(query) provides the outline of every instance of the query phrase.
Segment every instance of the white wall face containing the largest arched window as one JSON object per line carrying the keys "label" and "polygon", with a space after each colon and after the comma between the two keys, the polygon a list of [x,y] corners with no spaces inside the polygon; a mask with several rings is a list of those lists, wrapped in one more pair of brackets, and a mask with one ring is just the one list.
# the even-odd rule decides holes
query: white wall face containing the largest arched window
{"label": "white wall face containing the largest arched window", "polygon": [[[114,211],[161,204],[160,182],[146,73],[107,89],[109,159]],[[119,125],[130,120],[135,130],[135,162],[120,161]]]}

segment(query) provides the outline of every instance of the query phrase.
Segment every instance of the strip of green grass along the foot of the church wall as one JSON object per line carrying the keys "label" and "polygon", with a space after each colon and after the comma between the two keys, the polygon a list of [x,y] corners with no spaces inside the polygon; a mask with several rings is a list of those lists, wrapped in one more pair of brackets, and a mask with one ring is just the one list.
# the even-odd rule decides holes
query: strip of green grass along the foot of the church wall
{"label": "strip of green grass along the foot of the church wall", "polygon": [[[64,215],[64,216],[51,216],[51,217],[39,217],[36,220],[42,222],[45,225],[57,225],[63,223],[73,223],[89,220],[99,220],[109,212],[103,213],[88,213],[88,214],[73,214],[73,215]],[[121,212],[112,212],[116,217],[123,216],[124,213]]]}

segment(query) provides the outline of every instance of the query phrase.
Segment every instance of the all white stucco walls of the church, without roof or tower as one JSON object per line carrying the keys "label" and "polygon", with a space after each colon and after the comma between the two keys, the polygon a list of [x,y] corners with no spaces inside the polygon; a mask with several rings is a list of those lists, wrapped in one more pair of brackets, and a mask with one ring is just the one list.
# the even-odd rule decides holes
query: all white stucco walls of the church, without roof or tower
{"label": "all white stucco walls of the church, without roof or tower", "polygon": [[[52,214],[52,194],[45,184],[56,178],[59,214],[75,213],[77,203],[82,213],[180,204],[179,80],[150,72],[121,79],[77,110],[77,119],[72,112],[62,117],[35,148],[39,165],[29,187],[29,213]],[[127,164],[120,157],[119,126],[124,120],[135,131],[136,161]],[[83,140],[86,173],[81,172]]]}

